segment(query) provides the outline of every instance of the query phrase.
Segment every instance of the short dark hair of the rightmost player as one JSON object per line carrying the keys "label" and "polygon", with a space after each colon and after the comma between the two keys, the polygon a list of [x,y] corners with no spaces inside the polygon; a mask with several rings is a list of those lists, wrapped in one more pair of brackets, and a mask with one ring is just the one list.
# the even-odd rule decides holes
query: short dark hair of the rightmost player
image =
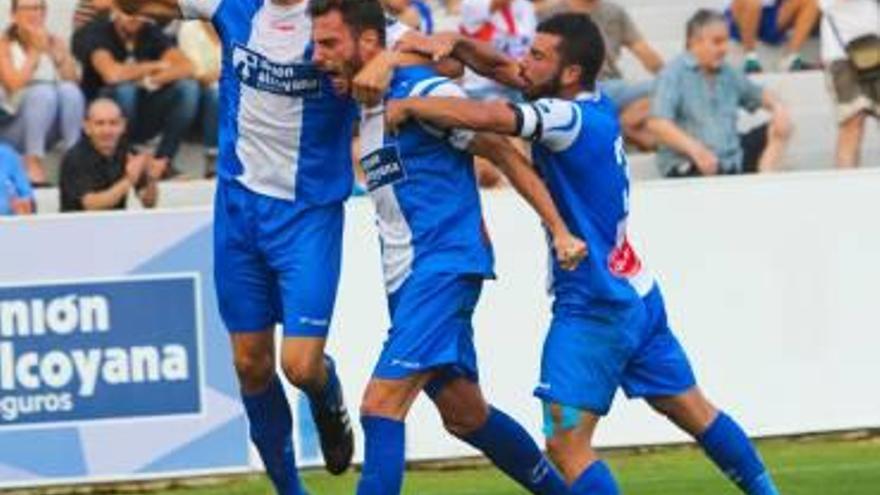
{"label": "short dark hair of the rightmost player", "polygon": [[605,39],[589,15],[557,14],[541,22],[538,32],[559,36],[562,63],[579,65],[581,85],[588,91],[596,89],[596,77],[605,63]]}

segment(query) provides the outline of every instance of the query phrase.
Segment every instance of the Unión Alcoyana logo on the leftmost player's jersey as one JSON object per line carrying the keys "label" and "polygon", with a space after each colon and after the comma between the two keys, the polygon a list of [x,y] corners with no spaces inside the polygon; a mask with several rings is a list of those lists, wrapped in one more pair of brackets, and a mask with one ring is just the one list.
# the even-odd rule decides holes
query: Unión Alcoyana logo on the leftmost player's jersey
{"label": "Uni\u00f3n Alcoyana logo on the leftmost player's jersey", "polygon": [[245,86],[292,98],[321,96],[321,73],[314,64],[273,62],[260,53],[236,45],[232,63]]}

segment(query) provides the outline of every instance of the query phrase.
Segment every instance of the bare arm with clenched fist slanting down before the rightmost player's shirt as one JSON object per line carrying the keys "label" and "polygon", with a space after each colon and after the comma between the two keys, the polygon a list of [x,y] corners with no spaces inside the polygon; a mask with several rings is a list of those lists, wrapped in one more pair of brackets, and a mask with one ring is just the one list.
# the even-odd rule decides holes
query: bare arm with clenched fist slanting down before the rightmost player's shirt
{"label": "bare arm with clenched fist slanting down before the rightmost player's shirt", "polygon": [[587,256],[586,243],[571,233],[544,181],[529,160],[498,134],[479,133],[469,151],[492,162],[541,218],[553,238],[556,259],[564,270],[574,270]]}

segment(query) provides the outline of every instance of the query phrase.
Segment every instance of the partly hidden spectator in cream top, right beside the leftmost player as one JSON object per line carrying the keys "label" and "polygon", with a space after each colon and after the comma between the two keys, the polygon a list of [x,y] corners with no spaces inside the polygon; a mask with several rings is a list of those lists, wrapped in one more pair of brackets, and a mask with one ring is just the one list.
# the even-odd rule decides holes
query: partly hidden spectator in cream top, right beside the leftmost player
{"label": "partly hidden spectator in cream top, right beside the leftmost player", "polygon": [[222,56],[220,37],[210,22],[187,21],[180,26],[177,44],[192,63],[193,75],[201,88],[196,127],[202,132],[205,146],[205,178],[211,178],[216,175],[217,161],[218,84]]}

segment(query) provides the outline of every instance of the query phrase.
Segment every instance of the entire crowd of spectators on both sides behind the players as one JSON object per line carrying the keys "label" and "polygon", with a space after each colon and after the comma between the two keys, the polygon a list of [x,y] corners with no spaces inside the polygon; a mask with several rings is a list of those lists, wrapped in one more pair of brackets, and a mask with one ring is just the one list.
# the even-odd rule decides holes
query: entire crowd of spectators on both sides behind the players
{"label": "entire crowd of spectators on both sides behind the players", "polygon": [[[179,174],[184,140],[202,145],[205,176],[213,176],[221,47],[210,23],[158,25],[125,15],[113,0],[78,0],[65,39],[47,26],[47,0],[9,1],[0,35],[0,215],[35,210],[32,187],[47,184],[53,149],[63,154],[64,211],[123,208],[131,191],[155,205],[156,182]],[[835,163],[859,165],[867,122],[880,116],[877,0],[718,0],[718,10],[701,9],[682,26],[684,49],[670,60],[618,1],[383,3],[426,33],[452,15],[461,34],[511,57],[527,53],[540,20],[589,14],[606,42],[599,89],[617,106],[630,149],[654,153],[664,177],[778,170],[796,130],[781,99],[752,78],[767,68],[823,70],[837,118]],[[821,56],[807,60],[804,46],[815,36]],[[741,64],[728,61],[731,40]],[[778,63],[761,59],[762,43],[776,47]],[[624,51],[649,78],[624,73]],[[462,84],[473,98],[520,98],[473,73]],[[743,112],[759,109],[765,123],[742,133]],[[477,167],[482,184],[500,184],[491,167]]]}

